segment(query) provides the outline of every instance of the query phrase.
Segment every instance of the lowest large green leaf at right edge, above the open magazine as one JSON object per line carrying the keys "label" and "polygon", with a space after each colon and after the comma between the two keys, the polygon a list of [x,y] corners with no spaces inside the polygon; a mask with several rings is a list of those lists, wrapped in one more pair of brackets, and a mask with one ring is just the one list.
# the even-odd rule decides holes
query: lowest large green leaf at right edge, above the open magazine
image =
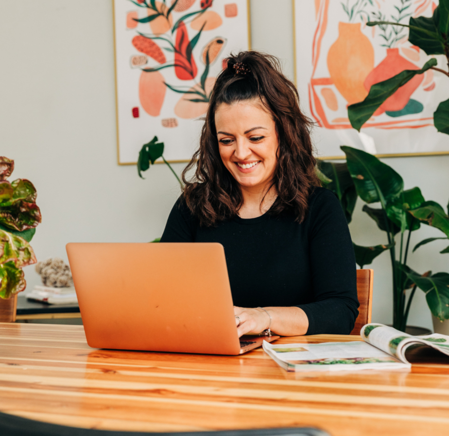
{"label": "lowest large green leaf at right edge, above the open magazine", "polygon": [[436,273],[428,277],[405,271],[419,289],[426,293],[426,300],[434,316],[449,319],[449,274]]}

